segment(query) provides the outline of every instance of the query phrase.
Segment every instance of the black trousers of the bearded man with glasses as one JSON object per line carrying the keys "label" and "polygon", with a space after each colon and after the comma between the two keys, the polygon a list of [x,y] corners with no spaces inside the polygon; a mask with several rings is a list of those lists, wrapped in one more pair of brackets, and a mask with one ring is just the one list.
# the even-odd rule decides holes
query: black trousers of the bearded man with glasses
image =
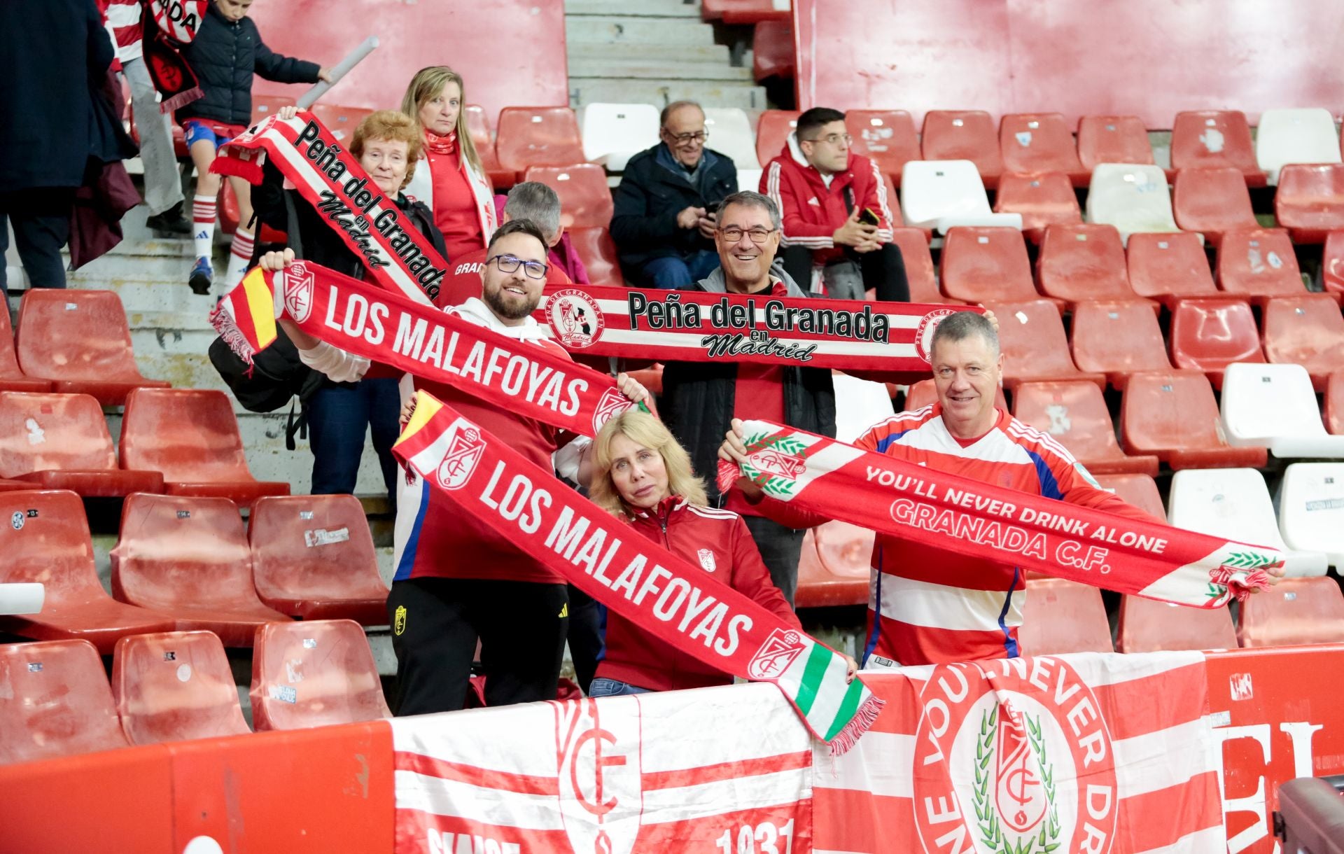
{"label": "black trousers of the bearded man with glasses", "polygon": [[396,715],[461,709],[477,640],[487,706],[555,699],[570,623],[563,584],[407,578],[392,582],[387,617]]}

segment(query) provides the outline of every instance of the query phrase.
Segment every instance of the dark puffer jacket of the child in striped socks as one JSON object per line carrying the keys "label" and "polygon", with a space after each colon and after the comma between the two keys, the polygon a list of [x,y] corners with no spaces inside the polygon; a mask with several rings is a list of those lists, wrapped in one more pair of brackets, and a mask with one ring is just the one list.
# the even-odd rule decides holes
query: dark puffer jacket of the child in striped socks
{"label": "dark puffer jacket of the child in striped socks", "polygon": [[179,122],[208,118],[226,125],[250,125],[253,74],[280,83],[316,83],[321,70],[316,62],[281,56],[270,50],[253,19],[231,22],[214,3],[181,55],[206,94],[177,110]]}

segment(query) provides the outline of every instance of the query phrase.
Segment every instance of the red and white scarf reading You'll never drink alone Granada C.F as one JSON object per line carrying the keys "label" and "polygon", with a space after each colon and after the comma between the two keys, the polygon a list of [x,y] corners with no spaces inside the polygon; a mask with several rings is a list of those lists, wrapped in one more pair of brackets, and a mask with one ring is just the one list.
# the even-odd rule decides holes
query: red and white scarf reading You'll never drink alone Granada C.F
{"label": "red and white scarf reading You'll never drink alone Granada C.F", "polygon": [[[1284,555],[1157,522],[996,487],[769,421],[746,421],[750,465],[719,463],[767,496],[879,534],[1196,608],[1269,586]],[[894,445],[899,448],[899,445]]]}

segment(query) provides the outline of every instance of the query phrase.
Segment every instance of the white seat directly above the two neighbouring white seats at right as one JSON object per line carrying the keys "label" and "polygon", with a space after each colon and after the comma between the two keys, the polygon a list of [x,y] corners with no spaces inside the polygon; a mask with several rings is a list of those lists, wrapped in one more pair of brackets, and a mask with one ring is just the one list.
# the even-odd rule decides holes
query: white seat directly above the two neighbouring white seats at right
{"label": "white seat directly above the two neighbouring white seats at right", "polygon": [[1275,457],[1344,460],[1344,436],[1331,436],[1301,364],[1228,364],[1223,378],[1228,444],[1269,448]]}

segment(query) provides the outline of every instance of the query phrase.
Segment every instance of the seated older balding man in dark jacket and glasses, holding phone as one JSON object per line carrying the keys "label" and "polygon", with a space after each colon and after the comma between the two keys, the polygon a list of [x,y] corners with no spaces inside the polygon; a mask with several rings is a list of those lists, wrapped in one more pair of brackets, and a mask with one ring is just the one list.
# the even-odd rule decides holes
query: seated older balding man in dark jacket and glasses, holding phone
{"label": "seated older balding man in dark jacket and glasses, holding phone", "polygon": [[680,288],[719,266],[715,210],[738,191],[732,159],[704,147],[704,110],[677,101],[663,110],[661,143],[630,157],[616,190],[612,239],[626,278]]}

